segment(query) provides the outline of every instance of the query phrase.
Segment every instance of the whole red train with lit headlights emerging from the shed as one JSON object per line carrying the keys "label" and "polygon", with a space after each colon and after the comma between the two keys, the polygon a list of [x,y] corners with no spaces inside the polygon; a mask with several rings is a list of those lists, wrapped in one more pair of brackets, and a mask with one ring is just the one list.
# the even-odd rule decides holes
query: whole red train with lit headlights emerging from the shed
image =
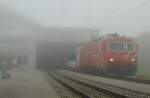
{"label": "whole red train with lit headlights emerging from the shed", "polygon": [[138,44],[130,37],[107,34],[78,47],[68,60],[79,72],[134,75],[138,65]]}

